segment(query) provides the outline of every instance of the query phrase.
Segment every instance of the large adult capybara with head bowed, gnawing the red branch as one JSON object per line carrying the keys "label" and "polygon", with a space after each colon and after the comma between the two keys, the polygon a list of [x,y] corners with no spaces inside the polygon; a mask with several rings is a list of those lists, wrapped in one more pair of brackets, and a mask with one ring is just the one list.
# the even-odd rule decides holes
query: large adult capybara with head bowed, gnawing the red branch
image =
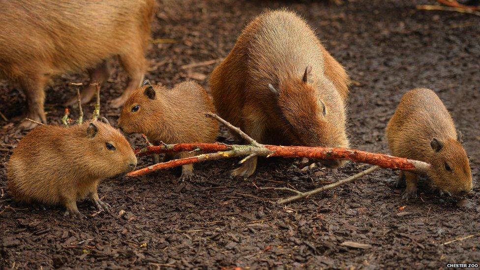
{"label": "large adult capybara with head bowed, gnawing the red branch", "polygon": [[[348,81],[305,21],[277,10],[242,30],[210,87],[218,114],[260,143],[348,147]],[[232,175],[249,177],[256,165],[250,158]]]}

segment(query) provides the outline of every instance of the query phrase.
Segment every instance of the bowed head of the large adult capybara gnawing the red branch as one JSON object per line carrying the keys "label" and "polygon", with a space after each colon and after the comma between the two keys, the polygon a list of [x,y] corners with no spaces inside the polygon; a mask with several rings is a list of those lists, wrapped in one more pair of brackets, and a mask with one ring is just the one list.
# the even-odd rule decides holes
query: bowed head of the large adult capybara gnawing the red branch
{"label": "bowed head of the large adult capybara gnawing the red branch", "polygon": [[[307,67],[303,77],[283,80],[278,89],[269,85],[288,130],[285,135],[304,146],[348,148],[345,108],[340,94],[326,78],[311,82],[310,72],[311,67]],[[339,167],[344,162],[325,160],[322,163]]]}

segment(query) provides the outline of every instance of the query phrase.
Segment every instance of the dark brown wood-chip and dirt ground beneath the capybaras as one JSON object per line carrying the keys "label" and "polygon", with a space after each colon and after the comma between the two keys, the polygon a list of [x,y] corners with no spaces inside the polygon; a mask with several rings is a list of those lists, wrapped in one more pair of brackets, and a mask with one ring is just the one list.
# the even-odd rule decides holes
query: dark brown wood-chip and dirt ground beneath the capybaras
{"label": "dark brown wood-chip and dirt ground beneath the capybaras", "polygon": [[[332,1],[333,2],[333,1]],[[474,177],[467,201],[440,197],[425,180],[420,198],[405,201],[393,189],[397,172],[382,170],[333,191],[286,206],[290,194],[256,186],[308,190],[366,168],[349,164],[338,171],[302,172],[290,160],[261,160],[249,180],[231,179],[238,160],[196,166],[197,176],[177,183],[180,170],[139,179],[114,178],[99,194],[111,212],[79,203],[85,220],[63,217],[63,208],[35,210],[14,204],[6,193],[5,165],[23,136],[0,119],[0,269],[3,268],[445,268],[447,263],[480,263],[480,17],[419,11],[422,1],[246,1],[165,0],[152,36],[175,43],[152,44],[147,78],[168,86],[187,78],[208,87],[217,60],[233,47],[243,26],[269,8],[288,6],[317,30],[330,53],[353,79],[348,133],[360,150],[388,152],[384,128],[402,94],[414,87],[435,90],[465,137]],[[434,3],[434,1],[423,1]],[[118,67],[116,61],[114,65]],[[61,103],[75,94],[67,84],[86,74],[63,75],[47,87],[46,111],[60,122]],[[125,87],[115,69],[102,92],[102,113]],[[22,110],[24,96],[0,84],[0,112]],[[84,106],[89,115],[92,106]],[[75,109],[72,109],[76,112]],[[2,128],[3,126],[3,128]],[[143,146],[139,136],[128,137]],[[140,166],[149,164],[142,158]],[[68,164],[66,164],[68,166]],[[119,212],[123,215],[119,215]],[[369,244],[352,248],[345,241]]]}

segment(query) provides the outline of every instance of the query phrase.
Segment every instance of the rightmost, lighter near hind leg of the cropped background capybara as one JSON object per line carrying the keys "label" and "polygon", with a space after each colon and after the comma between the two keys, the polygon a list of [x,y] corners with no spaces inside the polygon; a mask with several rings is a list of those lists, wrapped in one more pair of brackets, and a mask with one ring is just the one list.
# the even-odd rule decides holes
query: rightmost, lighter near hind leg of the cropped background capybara
{"label": "rightmost, lighter near hind leg of the cropped background capybara", "polygon": [[145,76],[146,60],[143,51],[134,50],[130,54],[120,55],[120,64],[128,73],[129,81],[120,97],[112,100],[111,106],[119,108],[128,99],[133,90],[139,88]]}

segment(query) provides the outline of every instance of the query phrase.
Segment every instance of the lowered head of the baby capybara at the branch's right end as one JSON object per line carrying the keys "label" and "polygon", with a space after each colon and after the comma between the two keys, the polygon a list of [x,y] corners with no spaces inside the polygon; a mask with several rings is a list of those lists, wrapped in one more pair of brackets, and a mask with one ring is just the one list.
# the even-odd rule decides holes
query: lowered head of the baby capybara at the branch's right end
{"label": "lowered head of the baby capybara at the branch's right end", "polygon": [[434,152],[428,172],[430,178],[440,190],[465,196],[473,187],[472,173],[467,153],[459,140],[433,138],[430,146]]}

